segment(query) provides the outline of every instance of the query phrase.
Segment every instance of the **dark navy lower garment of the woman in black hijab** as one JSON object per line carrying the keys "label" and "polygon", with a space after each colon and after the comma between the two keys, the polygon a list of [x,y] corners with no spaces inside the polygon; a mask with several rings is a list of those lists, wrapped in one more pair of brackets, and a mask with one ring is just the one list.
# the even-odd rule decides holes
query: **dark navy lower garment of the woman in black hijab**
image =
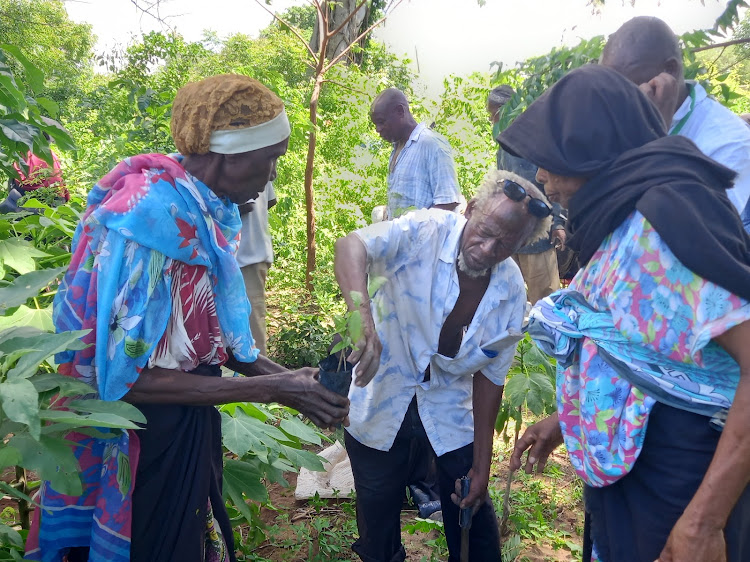
{"label": "dark navy lower garment of the woman in black hijab", "polygon": [[[602,562],[653,562],[703,480],[721,433],[709,418],[657,403],[638,460],[623,478],[584,488],[584,560],[596,544]],[[750,561],[750,486],[724,536],[727,560]]]}

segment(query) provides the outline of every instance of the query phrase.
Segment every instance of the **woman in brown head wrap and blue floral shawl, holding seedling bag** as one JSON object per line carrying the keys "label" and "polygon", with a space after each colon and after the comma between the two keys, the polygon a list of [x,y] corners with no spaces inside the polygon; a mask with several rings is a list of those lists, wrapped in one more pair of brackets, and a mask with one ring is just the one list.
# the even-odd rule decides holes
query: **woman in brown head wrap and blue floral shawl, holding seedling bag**
{"label": "woman in brown head wrap and blue floral shawl, holding seedling bag", "polygon": [[[234,560],[214,405],[277,401],[323,427],[344,420],[347,400],[316,370],[258,356],[234,257],[237,204],[275,177],[289,132],[281,100],[256,80],[207,78],[174,101],[180,154],[128,158],[92,189],[54,303],[57,329],[90,330],[89,346],[57,360],[148,423],[119,439],[70,436],[84,492],[43,484],[28,558]],[[248,377],[224,378],[221,365]]]}

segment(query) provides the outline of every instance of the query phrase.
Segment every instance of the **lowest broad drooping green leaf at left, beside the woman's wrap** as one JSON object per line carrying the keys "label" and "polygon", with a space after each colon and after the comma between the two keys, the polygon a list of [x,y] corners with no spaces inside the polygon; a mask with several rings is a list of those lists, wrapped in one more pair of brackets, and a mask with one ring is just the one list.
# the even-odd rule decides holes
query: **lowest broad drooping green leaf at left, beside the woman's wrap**
{"label": "lowest broad drooping green leaf at left, beside the woman's wrap", "polygon": [[21,466],[35,471],[42,480],[49,480],[57,492],[81,494],[78,461],[69,441],[45,435],[36,441],[28,434],[21,434],[12,437],[9,445],[21,453]]}

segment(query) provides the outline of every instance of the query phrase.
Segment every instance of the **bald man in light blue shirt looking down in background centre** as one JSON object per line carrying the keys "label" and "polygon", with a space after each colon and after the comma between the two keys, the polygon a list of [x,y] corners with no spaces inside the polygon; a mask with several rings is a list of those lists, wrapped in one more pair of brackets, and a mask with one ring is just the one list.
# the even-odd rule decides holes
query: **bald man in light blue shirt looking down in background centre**
{"label": "bald man in light blue shirt looking down in background centre", "polygon": [[404,93],[396,88],[381,92],[372,102],[370,119],[383,140],[393,144],[387,218],[414,209],[455,209],[461,192],[450,144],[424,123],[417,124]]}

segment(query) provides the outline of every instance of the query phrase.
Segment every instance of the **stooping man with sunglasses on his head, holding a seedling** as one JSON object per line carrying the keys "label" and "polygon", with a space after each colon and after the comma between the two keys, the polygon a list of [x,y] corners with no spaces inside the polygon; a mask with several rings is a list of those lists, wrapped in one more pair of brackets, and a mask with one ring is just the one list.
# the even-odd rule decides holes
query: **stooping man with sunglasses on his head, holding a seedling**
{"label": "stooping man with sunglasses on his head, holding a seedling", "polygon": [[[358,364],[346,447],[357,491],[353,549],[366,562],[405,558],[399,512],[409,452],[420,441],[437,455],[450,560],[460,550],[451,491],[465,475],[472,485],[463,505],[477,510],[472,560],[500,560],[487,484],[526,303],[521,273],[507,258],[547,235],[550,213],[531,182],[494,171],[465,217],[420,210],[337,241],[336,278],[350,310],[359,306],[365,333],[350,356]],[[352,292],[367,295],[368,275],[387,282],[371,303],[355,304]]]}

